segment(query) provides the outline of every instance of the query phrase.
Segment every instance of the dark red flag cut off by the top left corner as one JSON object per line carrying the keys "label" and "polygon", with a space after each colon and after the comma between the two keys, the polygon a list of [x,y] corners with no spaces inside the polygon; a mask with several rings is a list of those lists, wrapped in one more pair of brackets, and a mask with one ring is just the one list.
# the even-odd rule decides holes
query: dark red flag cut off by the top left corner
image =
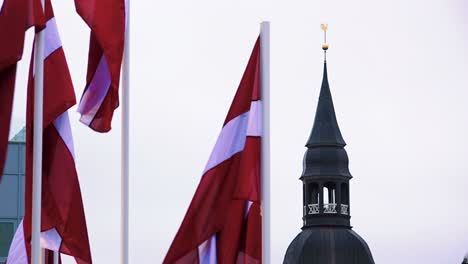
{"label": "dark red flag cut off by the top left corner", "polygon": [[0,0],[0,180],[8,146],[16,63],[23,56],[24,34],[44,23],[38,0]]}

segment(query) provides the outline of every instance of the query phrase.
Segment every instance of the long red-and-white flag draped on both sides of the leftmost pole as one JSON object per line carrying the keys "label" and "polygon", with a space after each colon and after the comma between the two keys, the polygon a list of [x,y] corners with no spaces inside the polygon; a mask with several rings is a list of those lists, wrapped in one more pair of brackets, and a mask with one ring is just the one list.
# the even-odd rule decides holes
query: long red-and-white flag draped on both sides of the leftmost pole
{"label": "long red-and-white flag draped on both sides of the leftmost pole", "polygon": [[[50,0],[45,1],[45,17],[41,247],[71,255],[79,264],[89,264],[91,252],[67,113],[76,103],[75,93]],[[25,216],[13,238],[9,264],[30,263],[34,56],[31,58],[26,114]]]}

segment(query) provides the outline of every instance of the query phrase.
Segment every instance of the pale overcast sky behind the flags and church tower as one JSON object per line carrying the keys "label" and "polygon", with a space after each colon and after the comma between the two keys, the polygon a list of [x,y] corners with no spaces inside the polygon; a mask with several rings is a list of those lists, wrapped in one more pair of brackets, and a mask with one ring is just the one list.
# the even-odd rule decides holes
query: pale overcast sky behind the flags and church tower
{"label": "pale overcast sky behind the flags and church tower", "polygon": [[[52,2],[79,99],[89,31],[72,0]],[[354,176],[354,230],[379,264],[461,262],[468,250],[467,7],[463,0],[132,1],[131,262],[165,256],[262,20],[271,21],[272,263],[282,263],[301,227],[298,178],[321,83],[324,22]],[[12,134],[24,124],[29,54],[30,45]],[[104,135],[79,123],[76,107],[70,118],[94,262],[118,263],[120,109]]]}

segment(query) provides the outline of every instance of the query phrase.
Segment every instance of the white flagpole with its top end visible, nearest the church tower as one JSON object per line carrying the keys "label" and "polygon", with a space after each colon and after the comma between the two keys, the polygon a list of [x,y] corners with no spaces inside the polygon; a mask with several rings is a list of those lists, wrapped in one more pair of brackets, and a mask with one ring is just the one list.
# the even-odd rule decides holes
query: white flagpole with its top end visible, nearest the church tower
{"label": "white flagpole with its top end visible, nearest the church tower", "polygon": [[263,102],[261,148],[262,175],[262,262],[270,260],[270,22],[260,25],[260,84]]}

